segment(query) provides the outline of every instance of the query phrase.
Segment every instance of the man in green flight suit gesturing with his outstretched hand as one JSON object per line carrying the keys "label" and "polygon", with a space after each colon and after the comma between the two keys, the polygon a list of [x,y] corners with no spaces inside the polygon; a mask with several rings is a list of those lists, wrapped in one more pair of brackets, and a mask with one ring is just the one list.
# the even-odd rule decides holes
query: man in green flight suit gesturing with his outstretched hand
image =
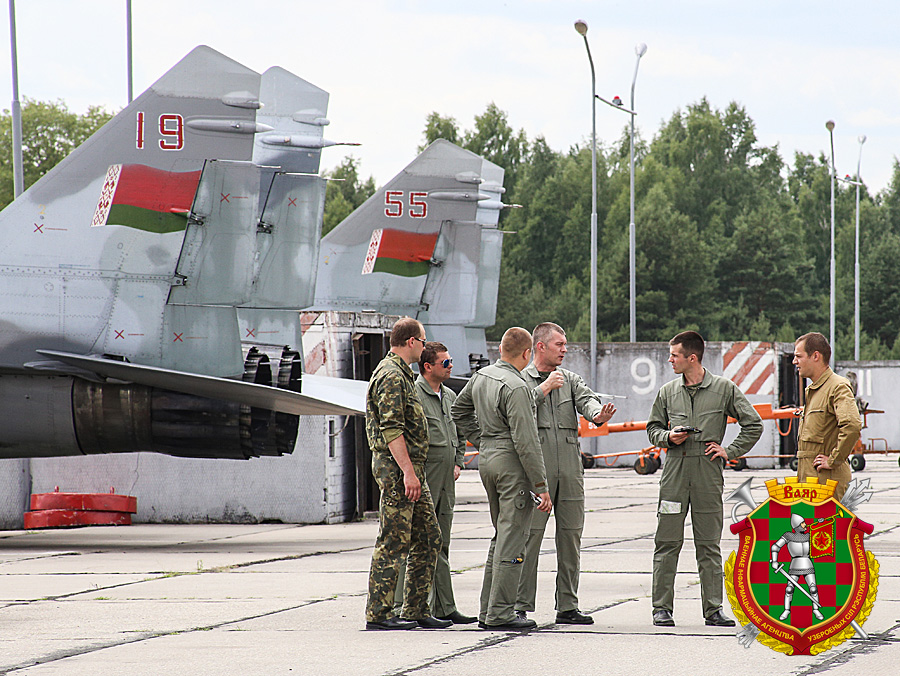
{"label": "man in green flight suit gesturing with his outstretched hand", "polygon": [[[537,404],[538,435],[556,517],[556,622],[593,624],[593,617],[578,610],[584,530],[584,465],[578,446],[578,414],[602,425],[616,409],[612,404],[600,404],[577,373],[560,368],[567,351],[562,327],[551,322],[538,324],[533,343],[534,361],[522,375]],[[534,610],[538,555],[547,518],[547,514],[538,512],[531,519],[516,598],[519,617]]]}

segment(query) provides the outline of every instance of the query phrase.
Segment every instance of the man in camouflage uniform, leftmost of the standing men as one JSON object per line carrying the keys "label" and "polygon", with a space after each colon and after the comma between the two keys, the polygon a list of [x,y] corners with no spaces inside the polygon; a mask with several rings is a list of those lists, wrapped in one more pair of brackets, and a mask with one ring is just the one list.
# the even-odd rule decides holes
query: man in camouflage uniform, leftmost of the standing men
{"label": "man in camouflage uniform, leftmost of the standing men", "polygon": [[[425,347],[425,329],[400,319],[391,331],[391,351],[375,367],[366,392],[366,437],[372,473],[381,489],[380,528],[369,569],[366,629],[436,629],[452,622],[428,611],[441,531],[425,483],[428,423],[409,365]],[[394,615],[394,590],[406,559],[403,617]]]}

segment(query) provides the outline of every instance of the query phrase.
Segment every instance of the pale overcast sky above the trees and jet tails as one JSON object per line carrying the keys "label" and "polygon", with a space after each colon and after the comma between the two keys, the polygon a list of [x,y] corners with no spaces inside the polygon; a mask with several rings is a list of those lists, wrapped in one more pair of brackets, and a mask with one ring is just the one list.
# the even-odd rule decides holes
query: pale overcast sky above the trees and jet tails
{"label": "pale overcast sky above the trees and jet tails", "polygon": [[[21,97],[118,110],[126,102],[125,0],[19,0]],[[8,13],[2,12],[0,103],[9,107]],[[649,140],[664,119],[706,96],[745,106],[766,145],[828,148],[839,175],[863,146],[870,190],[900,154],[900,5],[896,0],[133,0],[134,90],[198,44],[262,72],[282,66],[331,94],[326,138],[382,184],[415,156],[431,111],[470,127],[493,101],[529,138],[565,150],[590,135],[590,70],[575,19],[585,19],[598,93],[627,102],[637,43],[648,45],[636,90]],[[602,104],[602,142],[627,116]]]}

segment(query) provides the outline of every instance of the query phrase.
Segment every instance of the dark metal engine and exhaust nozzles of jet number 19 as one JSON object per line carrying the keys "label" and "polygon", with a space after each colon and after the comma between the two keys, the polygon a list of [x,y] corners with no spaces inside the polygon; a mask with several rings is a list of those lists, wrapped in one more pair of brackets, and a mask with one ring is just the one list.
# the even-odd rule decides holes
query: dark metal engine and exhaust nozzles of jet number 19
{"label": "dark metal engine and exhaust nozzles of jet number 19", "polygon": [[[297,352],[285,348],[270,363],[251,349],[243,380],[299,392],[301,376]],[[143,451],[234,460],[280,456],[294,450],[300,424],[297,415],[136,383],[58,374],[4,381],[35,411],[56,411],[39,429],[27,411],[0,423],[4,458]]]}

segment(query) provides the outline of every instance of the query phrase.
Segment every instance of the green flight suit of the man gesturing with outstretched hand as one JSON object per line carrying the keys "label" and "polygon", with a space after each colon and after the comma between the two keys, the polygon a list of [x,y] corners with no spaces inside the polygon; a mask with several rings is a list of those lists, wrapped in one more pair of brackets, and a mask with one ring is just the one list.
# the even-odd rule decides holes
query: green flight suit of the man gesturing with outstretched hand
{"label": "green flight suit of the man gesturing with outstretched hand", "polygon": [[[532,362],[522,375],[533,389],[537,404],[538,436],[547,470],[547,485],[556,518],[556,610],[578,609],[578,577],[581,572],[581,533],[584,530],[584,465],[578,445],[578,414],[593,420],[603,409],[577,373],[557,368],[563,385],[544,396],[540,385],[549,373]],[[535,511],[525,546],[525,563],[519,578],[516,610],[534,610],[537,596],[538,555],[549,515]]]}

